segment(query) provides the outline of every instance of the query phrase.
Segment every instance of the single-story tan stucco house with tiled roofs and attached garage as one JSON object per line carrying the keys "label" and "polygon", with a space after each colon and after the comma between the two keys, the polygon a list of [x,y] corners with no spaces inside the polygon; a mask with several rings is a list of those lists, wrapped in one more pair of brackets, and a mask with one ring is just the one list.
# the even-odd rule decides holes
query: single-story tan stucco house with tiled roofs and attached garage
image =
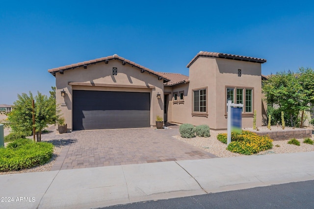
{"label": "single-story tan stucco house with tiled roofs and attached garage", "polygon": [[242,126],[262,125],[265,59],[200,51],[189,76],[158,72],[114,54],[48,70],[70,130],[135,128],[164,121],[227,128],[227,100],[244,104]]}

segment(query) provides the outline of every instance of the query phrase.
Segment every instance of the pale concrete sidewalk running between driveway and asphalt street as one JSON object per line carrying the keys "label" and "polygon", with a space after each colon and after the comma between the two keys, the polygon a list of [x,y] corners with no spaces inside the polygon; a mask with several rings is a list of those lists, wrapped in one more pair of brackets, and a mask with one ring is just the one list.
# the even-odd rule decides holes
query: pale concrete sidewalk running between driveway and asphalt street
{"label": "pale concrete sidewalk running between driveway and asphalt street", "polygon": [[308,181],[313,159],[304,152],[2,175],[0,208],[90,209]]}

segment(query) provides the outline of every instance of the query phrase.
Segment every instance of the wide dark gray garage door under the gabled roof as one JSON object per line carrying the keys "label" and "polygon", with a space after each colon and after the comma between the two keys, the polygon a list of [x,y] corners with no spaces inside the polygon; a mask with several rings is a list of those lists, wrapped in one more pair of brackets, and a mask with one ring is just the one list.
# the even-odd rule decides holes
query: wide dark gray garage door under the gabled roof
{"label": "wide dark gray garage door under the gabled roof", "polygon": [[73,90],[73,130],[150,127],[150,93]]}

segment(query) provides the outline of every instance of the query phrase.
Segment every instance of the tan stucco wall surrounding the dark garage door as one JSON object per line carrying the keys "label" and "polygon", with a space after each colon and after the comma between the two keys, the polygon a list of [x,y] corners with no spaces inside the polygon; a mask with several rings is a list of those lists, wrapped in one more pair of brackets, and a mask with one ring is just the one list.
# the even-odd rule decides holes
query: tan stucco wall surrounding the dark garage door
{"label": "tan stucco wall surrounding the dark garage door", "polygon": [[[118,74],[112,75],[112,68],[118,68]],[[110,60],[108,64],[97,63],[89,65],[87,69],[77,68],[65,70],[64,74],[57,72],[56,78],[56,103],[66,103],[60,106],[60,110],[68,124],[68,129],[72,129],[72,90],[92,90],[92,91],[118,91],[118,92],[150,92],[151,93],[151,125],[156,125],[156,116],[163,116],[163,79],[148,72],[141,73],[136,67],[122,65],[119,60]],[[69,82],[80,82],[92,84],[92,86],[72,86]],[[99,87],[98,84],[111,84],[113,87]],[[117,87],[115,87],[117,85]],[[122,88],[119,85],[124,85]],[[128,85],[128,87],[126,87]],[[134,86],[135,88],[132,88]],[[151,86],[147,88],[146,86]],[[140,88],[144,87],[144,88]],[[66,96],[61,96],[61,91],[66,92]],[[157,93],[161,94],[161,99],[157,99]]]}

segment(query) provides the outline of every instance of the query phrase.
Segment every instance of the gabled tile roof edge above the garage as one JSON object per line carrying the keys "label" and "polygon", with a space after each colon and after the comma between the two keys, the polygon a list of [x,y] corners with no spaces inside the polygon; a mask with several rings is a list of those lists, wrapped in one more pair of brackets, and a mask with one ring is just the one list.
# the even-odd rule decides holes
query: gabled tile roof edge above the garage
{"label": "gabled tile roof edge above the garage", "polygon": [[[105,62],[107,63],[109,60],[121,60],[122,61],[122,64],[125,65],[126,63],[130,64],[131,66],[134,66],[134,67],[137,67],[138,69],[140,70],[144,70],[144,71],[147,71],[149,73],[152,73],[154,75],[157,75],[159,77],[159,79],[164,79],[165,81],[169,81],[170,79],[167,78],[165,75],[162,75],[158,72],[155,72],[154,70],[150,70],[148,68],[145,68],[144,66],[141,66],[139,64],[136,64],[130,60],[127,60],[123,57],[120,57],[119,55],[117,54],[114,54],[112,56],[107,56],[107,57],[102,57],[102,58],[98,58],[98,59],[94,59],[94,60],[89,60],[89,61],[84,61],[84,62],[80,62],[80,63],[76,63],[76,64],[72,64],[72,65],[66,65],[66,66],[62,66],[62,67],[59,67],[59,68],[53,68],[53,69],[50,69],[48,70],[48,72],[50,72],[53,76],[55,76],[55,73],[56,72],[63,72],[63,70],[72,70],[72,69],[76,69],[76,68],[79,68],[79,67],[87,67],[88,65],[91,65],[91,64],[96,64],[96,63],[100,63],[100,62]],[[144,72],[143,71],[143,72]]]}

